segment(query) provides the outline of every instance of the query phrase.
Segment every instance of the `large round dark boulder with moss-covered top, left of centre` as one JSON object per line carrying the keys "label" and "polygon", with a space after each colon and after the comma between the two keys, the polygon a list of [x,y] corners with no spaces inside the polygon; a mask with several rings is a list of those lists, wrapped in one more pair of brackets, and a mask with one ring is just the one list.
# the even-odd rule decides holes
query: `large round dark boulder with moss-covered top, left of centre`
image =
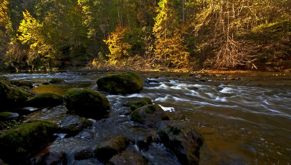
{"label": "large round dark boulder with moss-covered top, left of centre", "polygon": [[66,91],[64,104],[70,113],[95,119],[103,118],[110,108],[109,100],[104,95],[81,88]]}

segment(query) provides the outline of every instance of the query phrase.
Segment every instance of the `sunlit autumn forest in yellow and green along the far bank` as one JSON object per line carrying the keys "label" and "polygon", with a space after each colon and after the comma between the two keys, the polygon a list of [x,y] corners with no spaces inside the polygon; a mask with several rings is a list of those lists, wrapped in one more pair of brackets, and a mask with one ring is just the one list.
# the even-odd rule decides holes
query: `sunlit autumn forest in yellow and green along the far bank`
{"label": "sunlit autumn forest in yellow and green along the far bank", "polygon": [[237,68],[291,59],[290,0],[0,0],[2,68]]}

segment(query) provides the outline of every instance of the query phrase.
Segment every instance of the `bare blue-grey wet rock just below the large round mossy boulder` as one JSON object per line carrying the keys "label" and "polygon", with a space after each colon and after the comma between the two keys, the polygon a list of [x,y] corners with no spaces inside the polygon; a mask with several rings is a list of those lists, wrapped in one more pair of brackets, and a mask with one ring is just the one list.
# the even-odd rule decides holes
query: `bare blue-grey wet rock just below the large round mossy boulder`
{"label": "bare blue-grey wet rock just below the large round mossy boulder", "polygon": [[65,116],[61,120],[60,133],[68,134],[68,136],[74,136],[83,129],[83,124],[84,119],[79,116]]}

